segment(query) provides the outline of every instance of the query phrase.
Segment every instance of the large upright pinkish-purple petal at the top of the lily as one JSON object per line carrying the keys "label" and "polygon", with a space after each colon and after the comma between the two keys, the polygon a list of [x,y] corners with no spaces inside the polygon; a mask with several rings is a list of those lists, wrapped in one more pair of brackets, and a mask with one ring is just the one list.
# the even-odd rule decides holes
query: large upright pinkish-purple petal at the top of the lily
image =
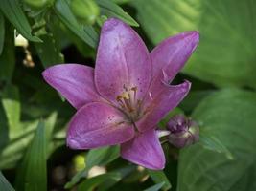
{"label": "large upright pinkish-purple petal at the top of the lily", "polygon": [[142,39],[127,24],[111,18],[102,27],[95,83],[99,93],[116,101],[126,89],[137,87],[145,96],[151,82],[151,59]]}

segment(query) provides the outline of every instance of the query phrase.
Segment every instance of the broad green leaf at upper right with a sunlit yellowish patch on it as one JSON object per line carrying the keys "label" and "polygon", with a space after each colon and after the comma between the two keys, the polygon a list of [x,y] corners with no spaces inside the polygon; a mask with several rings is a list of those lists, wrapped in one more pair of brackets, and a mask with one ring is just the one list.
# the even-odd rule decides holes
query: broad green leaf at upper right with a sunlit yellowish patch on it
{"label": "broad green leaf at upper right with a sunlit yellowish patch on it", "polygon": [[[256,2],[253,0],[131,1],[156,45],[177,32],[198,30],[200,42],[184,73],[218,86],[256,87]],[[157,13],[154,13],[157,12]]]}

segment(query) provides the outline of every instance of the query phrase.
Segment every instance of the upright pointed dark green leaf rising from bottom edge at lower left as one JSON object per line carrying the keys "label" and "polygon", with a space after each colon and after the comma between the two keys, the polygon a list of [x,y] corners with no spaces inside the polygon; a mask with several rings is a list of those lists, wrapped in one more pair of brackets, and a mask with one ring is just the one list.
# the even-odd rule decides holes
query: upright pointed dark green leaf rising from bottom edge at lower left
{"label": "upright pointed dark green leaf rising from bottom edge at lower left", "polygon": [[37,125],[35,137],[26,152],[20,171],[17,174],[16,183],[18,190],[47,190],[45,145],[45,127],[44,123],[40,121]]}

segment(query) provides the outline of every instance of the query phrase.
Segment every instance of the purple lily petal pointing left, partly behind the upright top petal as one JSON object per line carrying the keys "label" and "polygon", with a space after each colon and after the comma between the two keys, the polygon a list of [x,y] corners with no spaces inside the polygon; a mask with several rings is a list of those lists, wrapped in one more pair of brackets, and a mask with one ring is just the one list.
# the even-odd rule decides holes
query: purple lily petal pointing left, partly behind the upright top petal
{"label": "purple lily petal pointing left, partly behind the upright top petal", "polygon": [[103,99],[94,85],[93,68],[80,64],[58,64],[46,69],[42,75],[76,109]]}

